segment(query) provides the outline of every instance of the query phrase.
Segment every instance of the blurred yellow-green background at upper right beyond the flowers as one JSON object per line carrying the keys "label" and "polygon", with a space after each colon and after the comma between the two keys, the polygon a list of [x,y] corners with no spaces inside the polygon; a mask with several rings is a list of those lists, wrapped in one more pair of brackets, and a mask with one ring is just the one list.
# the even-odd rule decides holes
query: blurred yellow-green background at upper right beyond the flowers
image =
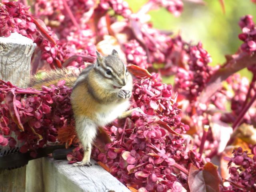
{"label": "blurred yellow-green background at upper right beyond the flowers", "polygon": [[[134,12],[147,0],[126,0]],[[219,0],[205,0],[205,5],[184,2],[184,10],[179,17],[174,17],[165,8],[150,11],[151,21],[155,28],[180,32],[186,41],[196,44],[201,41],[203,48],[212,56],[212,64],[225,62],[225,54],[234,54],[242,41],[238,39],[241,29],[240,18],[246,14],[254,16],[256,22],[256,4],[250,0],[224,0],[224,14]],[[251,77],[246,70],[242,76]]]}

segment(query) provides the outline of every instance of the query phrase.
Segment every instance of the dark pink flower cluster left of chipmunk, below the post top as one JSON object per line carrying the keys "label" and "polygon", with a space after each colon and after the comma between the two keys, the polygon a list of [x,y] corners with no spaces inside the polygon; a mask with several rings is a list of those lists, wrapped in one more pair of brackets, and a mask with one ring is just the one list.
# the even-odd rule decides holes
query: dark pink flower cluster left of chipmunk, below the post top
{"label": "dark pink flower cluster left of chipmunk, below the post top", "polygon": [[60,81],[51,88],[42,86],[42,91],[38,91],[0,80],[0,144],[14,147],[16,140],[8,135],[15,132],[18,140],[24,142],[20,152],[30,151],[30,155],[36,157],[37,148],[56,142],[58,128],[74,125],[71,89],[64,83]]}

